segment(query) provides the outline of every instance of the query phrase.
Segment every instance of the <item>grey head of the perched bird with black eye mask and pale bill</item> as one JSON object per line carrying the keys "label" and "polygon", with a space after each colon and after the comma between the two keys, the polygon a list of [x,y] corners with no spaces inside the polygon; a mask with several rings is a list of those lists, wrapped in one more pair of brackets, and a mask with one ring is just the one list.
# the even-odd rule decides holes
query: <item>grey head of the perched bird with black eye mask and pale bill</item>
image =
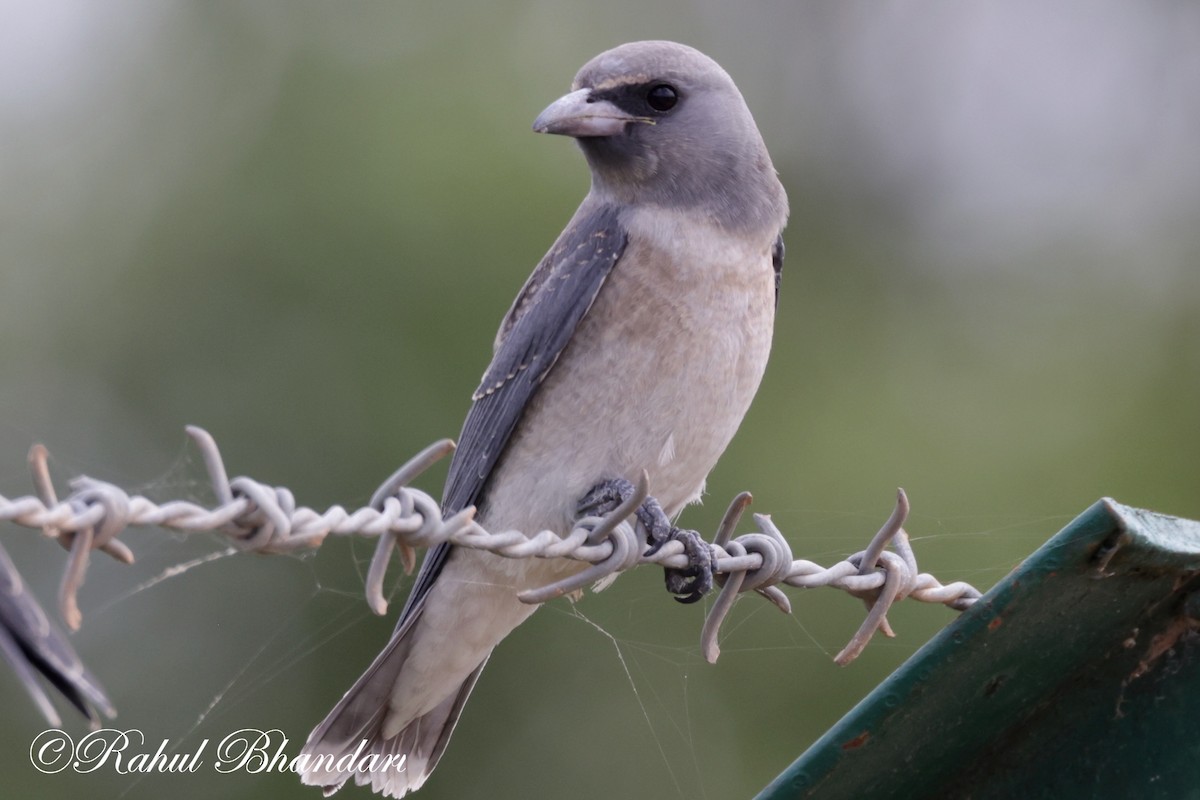
{"label": "grey head of the perched bird with black eye mask and pale bill", "polygon": [[730,228],[782,227],[787,197],[733,79],[676,42],[622,44],[583,65],[534,131],[575,137],[593,192],[698,207]]}

